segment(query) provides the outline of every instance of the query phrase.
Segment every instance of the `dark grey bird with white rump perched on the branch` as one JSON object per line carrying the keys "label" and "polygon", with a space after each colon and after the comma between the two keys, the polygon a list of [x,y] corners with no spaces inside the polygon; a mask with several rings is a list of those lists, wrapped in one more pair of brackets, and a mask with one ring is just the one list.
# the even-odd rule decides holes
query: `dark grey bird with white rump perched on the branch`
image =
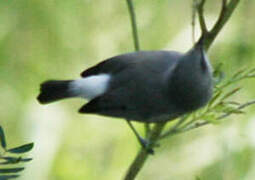
{"label": "dark grey bird with white rump perched on the branch", "polygon": [[[187,53],[140,51],[109,58],[81,73],[78,80],[41,84],[42,104],[82,97],[80,113],[159,123],[207,104],[212,96],[212,68],[200,40]],[[135,132],[143,147],[146,141]]]}

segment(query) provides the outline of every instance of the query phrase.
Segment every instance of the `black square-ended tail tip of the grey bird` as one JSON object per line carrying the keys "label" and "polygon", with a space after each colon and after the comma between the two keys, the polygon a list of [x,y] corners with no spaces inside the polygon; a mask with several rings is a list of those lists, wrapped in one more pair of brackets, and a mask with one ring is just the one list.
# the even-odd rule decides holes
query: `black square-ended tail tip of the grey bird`
{"label": "black square-ended tail tip of the grey bird", "polygon": [[72,97],[69,91],[70,80],[50,80],[41,84],[40,94],[37,97],[41,104],[51,103],[64,98]]}

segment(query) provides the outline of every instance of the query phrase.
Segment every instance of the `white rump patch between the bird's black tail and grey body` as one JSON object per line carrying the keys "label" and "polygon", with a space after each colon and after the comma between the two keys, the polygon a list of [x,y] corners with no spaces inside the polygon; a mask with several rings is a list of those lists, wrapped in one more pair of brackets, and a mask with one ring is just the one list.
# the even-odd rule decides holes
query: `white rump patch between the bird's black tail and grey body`
{"label": "white rump patch between the bird's black tail and grey body", "polygon": [[109,74],[99,74],[74,80],[69,90],[74,96],[90,100],[106,92],[110,79]]}

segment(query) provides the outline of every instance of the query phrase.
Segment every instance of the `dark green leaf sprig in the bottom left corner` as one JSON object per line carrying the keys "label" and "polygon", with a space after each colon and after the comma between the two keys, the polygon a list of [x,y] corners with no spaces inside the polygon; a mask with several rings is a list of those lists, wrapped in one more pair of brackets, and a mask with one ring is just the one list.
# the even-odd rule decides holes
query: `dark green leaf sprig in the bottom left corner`
{"label": "dark green leaf sprig in the bottom left corner", "polygon": [[[25,168],[17,166],[20,166],[20,163],[29,162],[32,160],[32,158],[23,158],[21,155],[32,150],[34,144],[29,143],[8,149],[5,139],[5,133],[1,126],[0,126],[0,142],[1,147],[3,149],[1,151],[2,153],[0,153],[0,180],[8,180],[19,177],[18,174]],[[16,156],[9,154],[16,154]],[[19,156],[17,156],[17,154],[19,154]],[[3,166],[7,167],[3,168]]]}

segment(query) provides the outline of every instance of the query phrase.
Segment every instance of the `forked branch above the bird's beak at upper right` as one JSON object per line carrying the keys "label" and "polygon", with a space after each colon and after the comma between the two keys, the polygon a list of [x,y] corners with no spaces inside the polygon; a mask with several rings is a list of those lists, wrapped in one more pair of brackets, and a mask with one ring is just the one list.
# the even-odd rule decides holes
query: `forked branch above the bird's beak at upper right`
{"label": "forked branch above the bird's beak at upper right", "polygon": [[203,12],[203,6],[205,4],[205,0],[201,0],[200,4],[198,5],[198,16],[199,16],[199,22],[200,22],[200,28],[202,31],[202,37],[204,37],[204,47],[205,50],[207,51],[223,26],[226,24],[226,22],[229,20],[231,17],[232,13],[236,9],[238,3],[240,0],[231,0],[227,4],[227,0],[222,0],[222,8],[221,12],[219,15],[219,18],[217,19],[215,25],[210,31],[207,31],[206,25],[205,25],[205,20],[204,20],[204,12]]}

